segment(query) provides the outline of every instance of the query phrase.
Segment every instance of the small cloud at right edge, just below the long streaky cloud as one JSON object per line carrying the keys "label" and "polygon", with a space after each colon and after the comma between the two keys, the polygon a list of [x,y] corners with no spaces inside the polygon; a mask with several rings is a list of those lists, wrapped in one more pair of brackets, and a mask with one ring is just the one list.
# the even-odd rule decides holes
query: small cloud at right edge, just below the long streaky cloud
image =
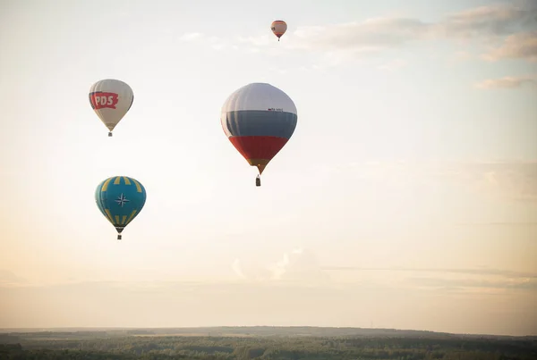
{"label": "small cloud at right edge, just below the long streaky cloud", "polygon": [[524,59],[537,62],[537,31],[511,35],[501,46],[484,54],[483,58],[489,61]]}

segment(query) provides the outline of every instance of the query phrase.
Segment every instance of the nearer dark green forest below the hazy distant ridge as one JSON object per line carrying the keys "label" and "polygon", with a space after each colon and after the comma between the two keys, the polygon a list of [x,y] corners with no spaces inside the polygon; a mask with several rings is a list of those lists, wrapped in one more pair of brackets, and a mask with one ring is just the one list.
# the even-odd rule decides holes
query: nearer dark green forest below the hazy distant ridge
{"label": "nearer dark green forest below the hazy distant ridge", "polygon": [[0,345],[1,360],[535,360],[532,339],[355,337],[124,337],[21,339]]}

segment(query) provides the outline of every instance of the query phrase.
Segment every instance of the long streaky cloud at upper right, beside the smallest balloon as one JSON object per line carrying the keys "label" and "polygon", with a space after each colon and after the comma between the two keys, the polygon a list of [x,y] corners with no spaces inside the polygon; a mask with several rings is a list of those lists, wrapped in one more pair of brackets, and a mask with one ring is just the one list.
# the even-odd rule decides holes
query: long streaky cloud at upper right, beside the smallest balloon
{"label": "long streaky cloud at upper right, beside the smallest balloon", "polygon": [[[489,39],[537,28],[536,10],[491,5],[447,15],[436,23],[401,17],[379,17],[362,22],[298,27],[291,47],[318,51],[375,53],[418,40]],[[520,35],[518,35],[520,36]]]}

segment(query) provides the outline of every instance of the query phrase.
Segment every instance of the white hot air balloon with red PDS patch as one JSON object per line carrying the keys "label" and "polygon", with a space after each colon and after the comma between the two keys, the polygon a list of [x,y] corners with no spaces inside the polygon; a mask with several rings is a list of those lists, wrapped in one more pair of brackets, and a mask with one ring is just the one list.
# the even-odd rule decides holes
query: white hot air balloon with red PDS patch
{"label": "white hot air balloon with red PDS patch", "polygon": [[120,80],[99,80],[90,88],[90,105],[107,126],[108,136],[129,111],[134,101],[132,88]]}

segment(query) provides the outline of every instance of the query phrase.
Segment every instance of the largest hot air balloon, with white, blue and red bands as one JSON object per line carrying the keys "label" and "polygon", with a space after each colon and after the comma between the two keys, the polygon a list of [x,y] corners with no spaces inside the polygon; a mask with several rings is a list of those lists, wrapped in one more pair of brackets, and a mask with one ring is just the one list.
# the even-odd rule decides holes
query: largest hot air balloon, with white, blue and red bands
{"label": "largest hot air balloon, with white, blue and red bands", "polygon": [[294,133],[297,113],[293,100],[270,84],[252,83],[226,99],[220,122],[227,138],[251,166],[257,166],[256,186],[268,162]]}

